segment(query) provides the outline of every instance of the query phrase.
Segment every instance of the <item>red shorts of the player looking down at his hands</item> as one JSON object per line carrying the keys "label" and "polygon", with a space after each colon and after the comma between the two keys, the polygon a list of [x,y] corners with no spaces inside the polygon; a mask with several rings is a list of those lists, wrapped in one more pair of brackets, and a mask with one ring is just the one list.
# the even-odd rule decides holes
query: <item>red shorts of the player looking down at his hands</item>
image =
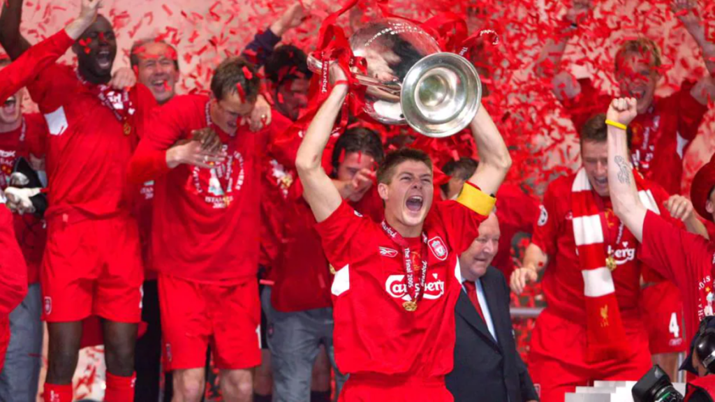
{"label": "red shorts of the player looking down at his hands", "polygon": [[222,370],[261,363],[261,307],[255,279],[236,285],[197,283],[159,274],[165,356],[172,370],[202,368],[209,343]]}

